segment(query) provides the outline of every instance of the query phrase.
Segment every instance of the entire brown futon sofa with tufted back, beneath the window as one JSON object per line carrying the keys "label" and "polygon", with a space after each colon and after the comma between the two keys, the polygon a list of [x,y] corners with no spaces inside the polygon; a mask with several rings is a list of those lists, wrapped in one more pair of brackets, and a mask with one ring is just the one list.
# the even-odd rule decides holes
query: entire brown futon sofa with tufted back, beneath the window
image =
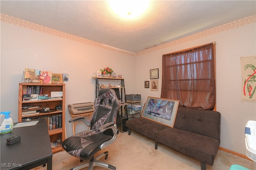
{"label": "entire brown futon sofa with tufted back, beneath the window", "polygon": [[216,111],[178,107],[174,127],[167,127],[143,117],[126,121],[128,134],[134,130],[158,143],[213,165],[220,146],[220,113]]}

